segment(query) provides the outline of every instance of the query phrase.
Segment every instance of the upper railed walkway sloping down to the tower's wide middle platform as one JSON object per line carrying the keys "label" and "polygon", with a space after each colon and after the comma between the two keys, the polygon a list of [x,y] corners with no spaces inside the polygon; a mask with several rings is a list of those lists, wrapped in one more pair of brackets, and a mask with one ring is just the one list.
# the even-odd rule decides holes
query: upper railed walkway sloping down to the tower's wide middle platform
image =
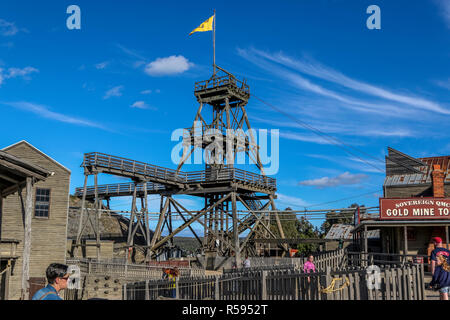
{"label": "upper railed walkway sloping down to the tower's wide middle platform", "polygon": [[98,152],[86,153],[82,166],[85,168],[85,174],[107,173],[135,181],[151,182],[149,193],[164,191],[166,188],[183,190],[200,186],[211,189],[229,184],[235,184],[236,187],[251,192],[272,194],[276,190],[276,179],[228,166],[220,169],[177,172],[174,169]]}

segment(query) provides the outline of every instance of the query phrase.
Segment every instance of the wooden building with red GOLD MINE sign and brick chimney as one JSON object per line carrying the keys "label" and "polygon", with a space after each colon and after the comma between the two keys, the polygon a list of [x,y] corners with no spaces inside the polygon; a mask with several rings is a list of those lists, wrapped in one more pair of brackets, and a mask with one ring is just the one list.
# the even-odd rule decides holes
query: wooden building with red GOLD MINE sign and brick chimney
{"label": "wooden building with red GOLD MINE sign and brick chimney", "polygon": [[415,159],[389,148],[386,156],[384,198],[377,218],[354,228],[354,241],[368,252],[370,230],[380,230],[380,252],[427,260],[433,237],[449,245],[450,156]]}

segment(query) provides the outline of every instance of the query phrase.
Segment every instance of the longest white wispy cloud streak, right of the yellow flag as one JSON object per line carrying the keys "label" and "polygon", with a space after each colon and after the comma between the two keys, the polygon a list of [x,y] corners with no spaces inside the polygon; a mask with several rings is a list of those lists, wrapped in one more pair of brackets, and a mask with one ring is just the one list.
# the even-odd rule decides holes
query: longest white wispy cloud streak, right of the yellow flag
{"label": "longest white wispy cloud streak, right of the yellow flag", "polygon": [[[448,4],[449,2],[446,1]],[[449,5],[450,8],[450,5]],[[450,14],[450,11],[449,11]],[[343,73],[336,71],[332,68],[329,68],[327,66],[324,66],[316,61],[313,60],[298,60],[291,57],[288,57],[284,55],[283,53],[277,53],[277,54],[271,54],[264,51],[251,49],[253,53],[256,55],[263,57],[267,60],[270,60],[272,62],[275,62],[277,64],[284,65],[286,67],[292,68],[294,70],[297,70],[303,74],[307,74],[322,80],[326,80],[335,84],[338,84],[340,86],[353,89],[360,93],[365,93],[371,96],[375,96],[377,98],[385,99],[394,101],[397,103],[402,103],[409,105],[414,108],[426,110],[426,111],[432,111],[437,112],[441,114],[450,114],[450,110],[444,108],[443,106],[439,105],[436,102],[414,96],[414,95],[405,95],[405,94],[399,94],[387,89],[380,88],[378,86],[374,86],[371,84],[368,84],[366,82],[362,82],[359,80],[352,79]],[[298,78],[295,81],[300,81],[300,85],[308,88],[312,91],[315,91],[316,93],[328,95],[330,97],[336,98],[338,100],[343,101],[342,96],[337,96],[336,94],[326,91],[323,89],[319,89],[318,86],[313,86],[311,83],[305,81],[304,79]],[[348,101],[343,101],[348,102]]]}

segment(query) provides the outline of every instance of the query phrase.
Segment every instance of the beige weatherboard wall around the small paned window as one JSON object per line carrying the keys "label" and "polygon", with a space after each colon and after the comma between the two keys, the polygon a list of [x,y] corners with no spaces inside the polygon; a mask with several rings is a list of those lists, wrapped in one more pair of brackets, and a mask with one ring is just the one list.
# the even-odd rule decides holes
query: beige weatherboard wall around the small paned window
{"label": "beige weatherboard wall around the small paned window", "polygon": [[[45,278],[45,270],[49,264],[65,263],[70,171],[26,142],[15,144],[4,151],[54,172],[53,176],[34,185],[32,197],[30,278]],[[48,218],[34,216],[36,188],[50,189]],[[25,202],[25,189],[22,191],[22,197]],[[18,193],[8,196],[3,201],[0,227],[2,238],[20,240],[17,246],[19,258],[10,279],[10,299],[17,299],[20,297],[21,290],[24,240],[22,205]]]}

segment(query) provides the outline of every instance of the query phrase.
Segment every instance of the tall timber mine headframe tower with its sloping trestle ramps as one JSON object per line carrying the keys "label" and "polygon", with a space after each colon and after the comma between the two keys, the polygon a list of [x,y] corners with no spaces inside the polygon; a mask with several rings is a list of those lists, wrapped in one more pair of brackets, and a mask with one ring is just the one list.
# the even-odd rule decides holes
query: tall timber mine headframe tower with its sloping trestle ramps
{"label": "tall timber mine headframe tower with its sloping trestle ramps", "polygon": [[[127,245],[129,248],[135,247],[134,235],[140,229],[146,240],[144,249],[147,259],[154,258],[164,245],[186,228],[189,228],[201,243],[204,252],[214,252],[224,257],[235,256],[237,263],[240,263],[240,256],[244,251],[246,254],[256,255],[256,249],[250,245],[250,239],[284,238],[274,203],[276,180],[264,174],[259,147],[245,110],[250,98],[249,86],[222,68],[216,68],[223,74],[214,73],[209,80],[195,84],[194,94],[200,106],[194,124],[185,129],[185,148],[176,170],[97,152],[84,155],[82,167],[85,182],[82,188],[76,189],[76,195],[82,199],[76,254],[78,248],[83,245],[81,240],[85,227],[91,223],[97,239],[97,256],[100,257],[99,220],[103,201],[107,200],[109,207],[110,198],[122,196],[131,196],[133,199]],[[206,106],[211,108],[212,112],[202,114]],[[215,130],[216,135],[219,132],[224,142],[211,139],[210,130]],[[242,134],[233,136],[225,143],[229,138],[228,130]],[[209,160],[205,170],[181,171],[195,148],[205,149],[207,152]],[[253,160],[260,174],[234,167],[234,158],[239,152],[245,152],[249,159]],[[130,182],[99,185],[99,174],[128,178]],[[94,176],[94,185],[88,186],[88,177],[91,175]],[[147,201],[150,194],[161,197],[159,218],[152,237]],[[175,195],[203,198],[204,206],[199,211],[189,211],[174,199]],[[137,206],[138,199],[141,202],[140,210]],[[94,203],[93,210],[87,210],[86,201]],[[244,217],[238,217],[238,204],[248,212]],[[172,227],[172,214],[181,216],[184,221],[176,229]],[[278,234],[274,234],[270,228],[271,220],[276,221]],[[203,240],[192,228],[194,222],[203,226]],[[162,237],[165,227],[168,235]],[[241,241],[240,234],[246,230],[249,232]],[[286,244],[280,247],[288,250]]]}

